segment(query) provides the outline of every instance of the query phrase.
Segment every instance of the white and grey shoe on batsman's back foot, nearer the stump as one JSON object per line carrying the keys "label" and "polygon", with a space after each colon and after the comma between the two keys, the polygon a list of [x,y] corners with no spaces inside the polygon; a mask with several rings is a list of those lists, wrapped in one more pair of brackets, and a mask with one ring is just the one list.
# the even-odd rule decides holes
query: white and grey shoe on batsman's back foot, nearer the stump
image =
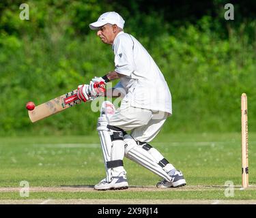
{"label": "white and grey shoe on batsman's back foot, nearer the stump", "polygon": [[156,184],[158,188],[169,188],[169,187],[182,187],[186,185],[184,176],[180,170],[175,171],[174,175],[171,176],[171,182],[168,182],[164,179]]}

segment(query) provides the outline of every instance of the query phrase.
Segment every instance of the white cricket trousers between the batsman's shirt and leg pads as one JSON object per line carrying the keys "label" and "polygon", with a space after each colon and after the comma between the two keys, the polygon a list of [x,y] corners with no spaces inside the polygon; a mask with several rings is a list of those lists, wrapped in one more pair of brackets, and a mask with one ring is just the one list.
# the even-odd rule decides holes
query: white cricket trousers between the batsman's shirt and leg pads
{"label": "white cricket trousers between the batsman's shirt and leg pads", "polygon": [[167,116],[168,112],[134,108],[130,106],[130,102],[122,100],[120,108],[109,119],[109,125],[124,131],[131,130],[130,136],[135,140],[150,142],[162,128]]}

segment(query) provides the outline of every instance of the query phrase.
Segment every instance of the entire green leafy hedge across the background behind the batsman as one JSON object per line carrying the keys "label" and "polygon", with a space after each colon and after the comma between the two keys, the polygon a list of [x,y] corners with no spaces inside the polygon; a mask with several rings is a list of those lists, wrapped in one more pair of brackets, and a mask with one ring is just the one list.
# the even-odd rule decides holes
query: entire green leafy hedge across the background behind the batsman
{"label": "entire green leafy hedge across the background behind the batsman", "polygon": [[[25,109],[29,101],[41,104],[113,70],[111,46],[102,44],[88,24],[115,4],[68,2],[29,1],[31,20],[23,21],[14,5],[3,10],[0,4],[1,135],[96,131],[99,113],[91,112],[90,104],[33,124]],[[240,131],[243,92],[248,127],[256,131],[255,22],[227,23],[223,29],[218,18],[203,16],[177,27],[157,12],[138,14],[132,2],[136,13],[126,20],[126,31],[155,59],[173,97],[173,116],[163,131]],[[129,14],[127,8],[123,12]]]}

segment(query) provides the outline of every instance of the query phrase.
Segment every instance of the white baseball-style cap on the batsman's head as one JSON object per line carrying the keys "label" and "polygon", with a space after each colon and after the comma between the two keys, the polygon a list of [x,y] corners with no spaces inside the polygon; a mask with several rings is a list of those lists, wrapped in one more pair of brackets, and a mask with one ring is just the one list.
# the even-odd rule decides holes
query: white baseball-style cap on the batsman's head
{"label": "white baseball-style cap on the batsman's head", "polygon": [[124,29],[124,19],[117,12],[106,12],[98,18],[96,22],[92,22],[89,27],[90,29],[98,29],[107,23],[111,25],[117,25],[121,29]]}

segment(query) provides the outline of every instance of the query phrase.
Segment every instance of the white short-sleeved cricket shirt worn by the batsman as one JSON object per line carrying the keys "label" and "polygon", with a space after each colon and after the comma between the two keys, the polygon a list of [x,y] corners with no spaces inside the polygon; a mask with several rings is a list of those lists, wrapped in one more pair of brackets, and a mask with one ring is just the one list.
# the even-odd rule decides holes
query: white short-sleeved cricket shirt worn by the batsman
{"label": "white short-sleeved cricket shirt worn by the batsman", "polygon": [[172,113],[171,92],[162,72],[132,35],[118,33],[113,42],[115,72],[122,74],[116,87],[124,87],[124,99],[136,108]]}

